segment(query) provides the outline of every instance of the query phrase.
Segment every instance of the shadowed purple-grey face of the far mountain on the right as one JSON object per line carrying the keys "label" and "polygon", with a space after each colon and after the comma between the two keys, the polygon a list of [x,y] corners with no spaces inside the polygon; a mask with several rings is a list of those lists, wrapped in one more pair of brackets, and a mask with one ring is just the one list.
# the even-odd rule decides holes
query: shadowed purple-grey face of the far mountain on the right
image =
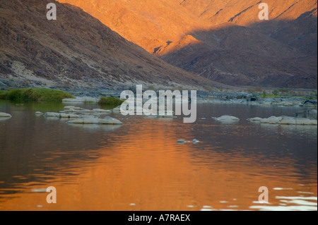
{"label": "shadowed purple-grey face of the far mountain on the right", "polygon": [[295,20],[240,24],[196,30],[190,34],[196,44],[157,52],[174,66],[228,85],[317,88],[317,8]]}

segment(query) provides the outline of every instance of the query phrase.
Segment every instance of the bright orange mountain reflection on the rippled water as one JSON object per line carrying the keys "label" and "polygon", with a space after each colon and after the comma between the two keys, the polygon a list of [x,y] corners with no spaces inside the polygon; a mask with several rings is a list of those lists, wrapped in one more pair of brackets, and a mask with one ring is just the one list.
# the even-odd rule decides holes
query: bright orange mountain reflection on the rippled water
{"label": "bright orange mountain reflection on the rippled water", "polygon": [[[33,193],[28,189],[7,195],[5,202],[0,202],[0,209],[250,209],[252,205],[259,205],[260,186],[269,188],[271,205],[283,204],[276,196],[306,197],[308,193],[317,196],[317,173],[313,175],[315,183],[312,176],[299,176],[292,159],[278,159],[290,161],[281,167],[269,166],[266,159],[264,164],[258,164],[253,158],[257,156],[223,154],[204,142],[179,145],[175,137],[192,140],[190,127],[183,125],[179,130],[170,121],[153,119],[148,122],[147,126],[126,125],[136,131],[126,133],[120,142],[110,145],[112,140],[108,138],[98,150],[101,157],[93,164],[81,162],[78,175],[70,176],[69,182],[56,178],[46,185],[25,185],[32,188],[54,186],[57,204],[46,202],[47,193]],[[309,171],[314,170],[312,166],[308,166]]]}

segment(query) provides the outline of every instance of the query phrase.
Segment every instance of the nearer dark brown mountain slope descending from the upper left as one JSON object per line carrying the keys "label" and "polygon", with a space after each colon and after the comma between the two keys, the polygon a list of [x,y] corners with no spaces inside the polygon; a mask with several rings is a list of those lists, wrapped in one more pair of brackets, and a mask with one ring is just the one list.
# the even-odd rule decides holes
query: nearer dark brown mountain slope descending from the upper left
{"label": "nearer dark brown mountain slope descending from the upper left", "polygon": [[[47,20],[47,4],[57,20]],[[77,6],[0,1],[0,85],[117,88],[136,84],[224,87],[172,66]]]}

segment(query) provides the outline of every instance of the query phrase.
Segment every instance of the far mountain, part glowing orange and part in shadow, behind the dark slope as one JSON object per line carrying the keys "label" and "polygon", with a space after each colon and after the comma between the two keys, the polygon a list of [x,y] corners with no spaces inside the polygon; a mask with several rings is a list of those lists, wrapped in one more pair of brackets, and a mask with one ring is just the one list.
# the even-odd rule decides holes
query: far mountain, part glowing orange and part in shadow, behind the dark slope
{"label": "far mountain, part glowing orange and part in shadow, behind the dark slope", "polygon": [[[228,85],[317,88],[317,1],[59,0],[160,59]],[[259,4],[269,20],[259,20]]]}

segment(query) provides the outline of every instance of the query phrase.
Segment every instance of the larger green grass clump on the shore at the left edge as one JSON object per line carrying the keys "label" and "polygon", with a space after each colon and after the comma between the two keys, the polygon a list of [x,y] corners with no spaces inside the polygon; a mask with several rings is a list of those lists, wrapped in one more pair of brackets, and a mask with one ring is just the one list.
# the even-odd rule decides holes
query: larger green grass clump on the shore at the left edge
{"label": "larger green grass clump on the shore at the left edge", "polygon": [[0,99],[17,102],[61,102],[62,99],[66,98],[75,97],[61,90],[42,87],[19,88],[0,92]]}

